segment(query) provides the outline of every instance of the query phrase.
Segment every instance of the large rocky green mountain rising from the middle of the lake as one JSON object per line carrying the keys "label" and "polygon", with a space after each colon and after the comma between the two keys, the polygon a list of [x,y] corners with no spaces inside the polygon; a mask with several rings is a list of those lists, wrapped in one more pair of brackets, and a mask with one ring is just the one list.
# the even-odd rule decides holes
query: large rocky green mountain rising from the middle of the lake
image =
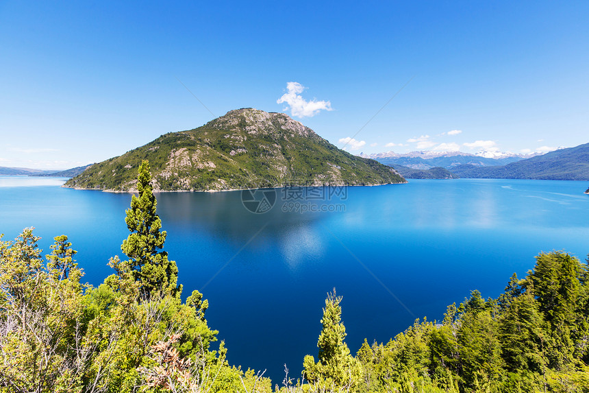
{"label": "large rocky green mountain rising from the middle of the lake", "polygon": [[65,187],[132,191],[143,159],[160,191],[405,182],[394,169],[339,150],[284,113],[243,108],[92,165]]}

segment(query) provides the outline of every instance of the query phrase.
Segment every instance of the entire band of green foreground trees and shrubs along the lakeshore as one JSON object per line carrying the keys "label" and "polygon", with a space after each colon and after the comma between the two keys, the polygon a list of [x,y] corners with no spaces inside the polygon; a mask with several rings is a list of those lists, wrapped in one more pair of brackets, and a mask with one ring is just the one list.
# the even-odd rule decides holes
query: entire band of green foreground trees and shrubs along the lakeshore
{"label": "entire band of green foreground trees and shrubs along the lakeshore", "polygon": [[[26,228],[0,237],[0,392],[272,392],[269,379],[225,360],[205,320],[208,301],[181,302],[177,268],[160,252],[149,166],[125,222],[131,234],[99,287],[84,275],[64,235],[45,259]],[[386,344],[344,343],[342,298],[327,295],[318,361],[275,392],[588,392],[589,265],[541,253],[497,299],[479,291],[440,324],[416,320]]]}

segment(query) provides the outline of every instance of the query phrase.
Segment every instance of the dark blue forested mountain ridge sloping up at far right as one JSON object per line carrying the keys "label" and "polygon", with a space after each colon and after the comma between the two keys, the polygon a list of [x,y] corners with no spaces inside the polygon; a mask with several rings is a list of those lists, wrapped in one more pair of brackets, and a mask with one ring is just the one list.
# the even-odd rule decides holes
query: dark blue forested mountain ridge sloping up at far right
{"label": "dark blue forested mountain ridge sloping up at far right", "polygon": [[589,143],[504,166],[459,165],[452,171],[461,178],[589,180]]}

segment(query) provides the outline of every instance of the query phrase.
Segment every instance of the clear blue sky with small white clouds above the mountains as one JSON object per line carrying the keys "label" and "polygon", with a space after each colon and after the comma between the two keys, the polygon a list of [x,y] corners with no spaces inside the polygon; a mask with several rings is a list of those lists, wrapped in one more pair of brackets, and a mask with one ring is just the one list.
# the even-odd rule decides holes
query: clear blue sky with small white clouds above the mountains
{"label": "clear blue sky with small white clouds above the mountains", "polygon": [[354,154],[572,147],[587,21],[588,1],[0,1],[0,166],[94,163],[243,107]]}

